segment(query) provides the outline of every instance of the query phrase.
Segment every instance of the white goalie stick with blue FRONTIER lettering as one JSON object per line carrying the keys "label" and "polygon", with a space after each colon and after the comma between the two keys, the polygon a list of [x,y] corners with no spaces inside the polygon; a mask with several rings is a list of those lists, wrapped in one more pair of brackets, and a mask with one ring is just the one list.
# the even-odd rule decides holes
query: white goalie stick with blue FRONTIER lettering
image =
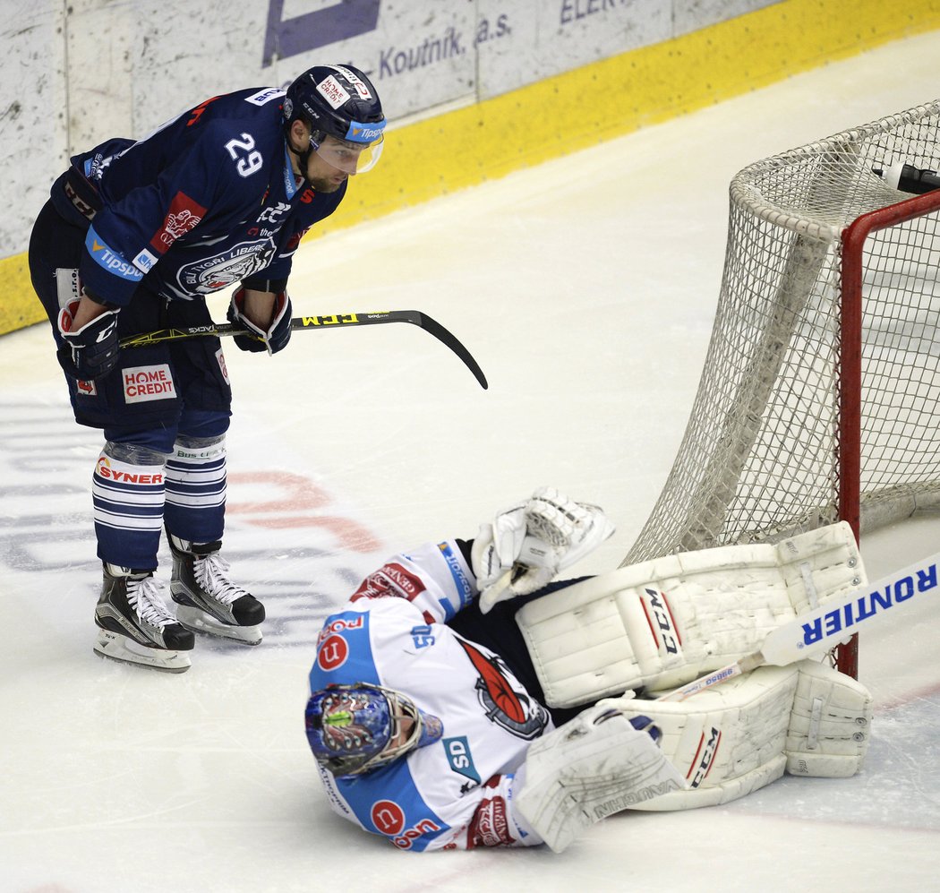
{"label": "white goalie stick with blue FRONTIER lettering", "polygon": [[759,651],[746,654],[733,664],[688,682],[658,699],[684,700],[764,664],[787,666],[823,654],[855,633],[859,625],[870,629],[885,617],[889,609],[910,603],[915,595],[935,589],[938,563],[940,553],[833,599],[768,633]]}

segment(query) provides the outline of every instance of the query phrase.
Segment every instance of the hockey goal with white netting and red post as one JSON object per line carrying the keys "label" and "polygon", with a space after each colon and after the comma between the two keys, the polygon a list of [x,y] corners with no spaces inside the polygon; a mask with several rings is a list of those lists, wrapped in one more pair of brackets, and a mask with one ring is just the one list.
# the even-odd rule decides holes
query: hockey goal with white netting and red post
{"label": "hockey goal with white netting and red post", "polygon": [[940,190],[874,173],[935,170],[938,126],[940,101],[731,180],[704,371],[624,565],[842,519],[858,537],[940,503]]}

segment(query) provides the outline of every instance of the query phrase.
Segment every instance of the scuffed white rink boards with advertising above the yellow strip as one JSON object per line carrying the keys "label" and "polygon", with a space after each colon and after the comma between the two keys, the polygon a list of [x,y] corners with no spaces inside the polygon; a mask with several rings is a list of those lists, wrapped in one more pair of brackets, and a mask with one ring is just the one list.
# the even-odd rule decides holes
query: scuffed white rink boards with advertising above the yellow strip
{"label": "scuffed white rink boards with advertising above the yellow strip", "polygon": [[312,65],[350,62],[401,122],[774,2],[3,0],[0,258],[25,250],[71,154],[143,136],[227,90],[283,86]]}

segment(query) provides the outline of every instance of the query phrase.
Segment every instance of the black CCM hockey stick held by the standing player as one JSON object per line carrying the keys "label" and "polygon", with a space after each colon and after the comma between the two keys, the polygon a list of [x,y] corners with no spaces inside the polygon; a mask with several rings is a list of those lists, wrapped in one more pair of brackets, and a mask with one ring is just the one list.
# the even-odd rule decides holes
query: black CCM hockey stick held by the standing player
{"label": "black CCM hockey stick held by the standing player", "polygon": [[[337,313],[333,316],[294,317],[290,321],[290,328],[293,331],[298,329],[349,328],[354,325],[375,325],[380,322],[411,322],[413,325],[424,329],[429,335],[432,335],[437,338],[438,341],[446,344],[451,351],[461,358],[463,364],[473,372],[480,387],[484,390],[489,387],[483,370],[479,368],[473,355],[462,343],[451,335],[440,322],[432,320],[427,313],[421,313],[418,310],[384,310],[376,313]],[[215,337],[249,335],[250,337],[248,332],[237,325],[232,325],[230,322],[219,322],[212,323],[211,325],[194,325],[188,328],[158,329],[156,332],[144,332],[140,335],[122,338],[120,346],[149,347],[152,344],[160,344],[163,341],[179,341],[181,338],[212,335]]]}

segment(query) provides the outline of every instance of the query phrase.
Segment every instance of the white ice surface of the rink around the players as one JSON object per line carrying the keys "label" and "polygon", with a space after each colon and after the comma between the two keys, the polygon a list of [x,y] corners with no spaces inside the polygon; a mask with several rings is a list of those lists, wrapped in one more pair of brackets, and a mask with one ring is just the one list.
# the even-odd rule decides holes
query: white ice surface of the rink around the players
{"label": "white ice surface of the rink around the players", "polygon": [[[100,440],[71,422],[45,326],[3,337],[0,890],[940,887],[929,601],[862,642],[877,704],[862,775],[620,814],[560,855],[400,854],[330,813],[302,722],[319,621],[386,554],[472,536],[552,484],[618,525],[580,570],[619,563],[695,394],[730,178],[934,99],[938,57],[940,34],[908,39],[306,244],[297,313],[422,310],[490,389],[413,326],[299,333],[274,358],[229,345],[226,551],[270,621],[254,650],[200,638],[180,676],[92,654]],[[926,518],[866,538],[870,576],[937,551],[938,532]]]}

